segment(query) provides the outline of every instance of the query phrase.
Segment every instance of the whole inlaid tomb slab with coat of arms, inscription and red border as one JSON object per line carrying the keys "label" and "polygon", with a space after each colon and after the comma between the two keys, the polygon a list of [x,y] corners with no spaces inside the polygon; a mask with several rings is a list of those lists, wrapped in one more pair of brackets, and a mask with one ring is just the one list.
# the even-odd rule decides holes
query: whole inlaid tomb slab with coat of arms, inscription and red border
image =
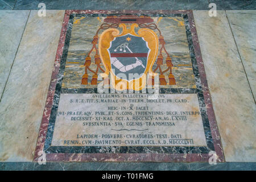
{"label": "whole inlaid tomb slab with coat of arms, inscription and red border", "polygon": [[56,57],[34,161],[225,161],[191,10],[67,10]]}

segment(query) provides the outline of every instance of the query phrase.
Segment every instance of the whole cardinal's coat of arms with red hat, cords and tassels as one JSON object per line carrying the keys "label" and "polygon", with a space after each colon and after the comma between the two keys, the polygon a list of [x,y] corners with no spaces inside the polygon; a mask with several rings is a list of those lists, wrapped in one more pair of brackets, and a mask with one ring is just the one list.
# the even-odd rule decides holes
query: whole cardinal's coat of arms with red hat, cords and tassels
{"label": "whole cardinal's coat of arms with red hat, cords and tassels", "polygon": [[[88,84],[89,71],[93,73],[92,85],[97,85],[98,74],[101,73],[104,84],[112,84],[116,90],[142,90],[146,85],[154,85],[157,73],[160,85],[167,85],[163,75],[165,72],[170,72],[168,84],[175,85],[171,57],[164,47],[166,43],[161,31],[153,19],[147,16],[123,15],[108,16],[104,22],[97,30],[92,41],[93,47],[85,59],[85,74],[82,76],[81,84]],[[119,32],[118,27],[122,28],[122,32]],[[135,32],[137,27],[139,30]],[[104,31],[99,38],[100,30]],[[159,36],[155,30],[158,31]],[[96,51],[94,56],[96,70],[90,69],[90,53],[93,50]],[[166,70],[161,69],[163,52],[167,55]],[[152,70],[155,60],[157,67]],[[105,69],[101,68],[101,61]]]}

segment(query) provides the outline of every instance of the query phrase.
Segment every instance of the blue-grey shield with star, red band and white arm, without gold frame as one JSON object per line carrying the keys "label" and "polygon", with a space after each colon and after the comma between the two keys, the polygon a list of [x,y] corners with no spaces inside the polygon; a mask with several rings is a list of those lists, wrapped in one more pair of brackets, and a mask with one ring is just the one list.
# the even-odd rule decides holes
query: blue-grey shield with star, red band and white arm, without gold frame
{"label": "blue-grey shield with star, red band and white arm, without gold frame", "polygon": [[145,72],[150,49],[143,38],[131,34],[118,36],[110,42],[108,51],[112,72],[117,77],[131,81]]}

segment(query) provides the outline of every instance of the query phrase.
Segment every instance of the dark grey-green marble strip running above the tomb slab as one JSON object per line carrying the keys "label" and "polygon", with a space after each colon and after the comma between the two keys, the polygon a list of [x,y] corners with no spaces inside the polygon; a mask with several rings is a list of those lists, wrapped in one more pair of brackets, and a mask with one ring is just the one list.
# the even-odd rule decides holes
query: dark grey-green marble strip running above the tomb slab
{"label": "dark grey-green marble strip running above the tomb slab", "polygon": [[[0,5],[2,5],[0,0]],[[4,0],[13,2],[15,0]],[[38,10],[39,3],[45,3],[47,10],[209,10],[214,2],[218,10],[255,10],[255,0],[17,0],[15,10]],[[0,9],[1,9],[0,6]]]}

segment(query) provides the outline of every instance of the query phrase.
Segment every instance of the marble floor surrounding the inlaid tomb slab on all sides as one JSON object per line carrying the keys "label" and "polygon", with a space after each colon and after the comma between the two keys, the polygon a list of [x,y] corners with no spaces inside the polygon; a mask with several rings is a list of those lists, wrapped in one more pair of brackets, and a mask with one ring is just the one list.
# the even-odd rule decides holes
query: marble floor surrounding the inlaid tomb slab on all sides
{"label": "marble floor surrounding the inlaid tomb slab on all sides", "polygon": [[[38,16],[39,2],[47,4],[45,17]],[[127,9],[169,9],[171,3],[173,9],[193,9],[226,162],[151,163],[150,167],[146,163],[32,162],[63,25],[65,10],[61,9],[124,9],[114,1],[105,1],[106,6],[100,1],[94,1],[98,6],[69,2],[0,0],[0,170],[256,169],[256,10],[251,10],[255,1],[200,0],[187,5],[163,1],[158,6],[153,1],[126,1]],[[220,7],[216,17],[208,15],[209,2]]]}

